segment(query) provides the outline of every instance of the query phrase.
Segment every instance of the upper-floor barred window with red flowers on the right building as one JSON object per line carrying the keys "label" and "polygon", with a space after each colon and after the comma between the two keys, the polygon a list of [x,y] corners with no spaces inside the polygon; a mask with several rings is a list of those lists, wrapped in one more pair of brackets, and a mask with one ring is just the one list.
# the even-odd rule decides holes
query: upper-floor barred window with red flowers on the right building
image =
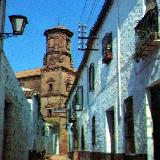
{"label": "upper-floor barred window with red flowers on the right building", "polygon": [[112,60],[112,33],[106,33],[102,40],[102,63]]}

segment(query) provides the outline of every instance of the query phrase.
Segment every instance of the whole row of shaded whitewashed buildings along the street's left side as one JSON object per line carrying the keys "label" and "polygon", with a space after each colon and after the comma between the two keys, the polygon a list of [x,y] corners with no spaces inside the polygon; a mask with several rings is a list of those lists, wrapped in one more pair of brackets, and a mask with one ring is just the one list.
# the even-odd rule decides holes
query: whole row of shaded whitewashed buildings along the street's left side
{"label": "whole row of shaded whitewashed buildings along the street's left side", "polygon": [[[6,0],[1,0],[1,33],[4,32],[5,9]],[[29,91],[27,100],[5,56],[3,42],[0,38],[0,160],[44,158],[45,151],[53,153],[56,133],[41,116],[38,94]]]}

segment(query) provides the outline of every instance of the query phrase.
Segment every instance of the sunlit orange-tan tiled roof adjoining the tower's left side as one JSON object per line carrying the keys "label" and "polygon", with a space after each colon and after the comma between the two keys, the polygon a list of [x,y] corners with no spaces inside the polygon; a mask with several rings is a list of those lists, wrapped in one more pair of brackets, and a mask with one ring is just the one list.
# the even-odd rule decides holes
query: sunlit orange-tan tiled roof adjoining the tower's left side
{"label": "sunlit orange-tan tiled roof adjoining the tower's left side", "polygon": [[35,68],[32,70],[26,70],[16,73],[17,78],[24,78],[24,77],[38,76],[38,75],[41,75],[41,68]]}

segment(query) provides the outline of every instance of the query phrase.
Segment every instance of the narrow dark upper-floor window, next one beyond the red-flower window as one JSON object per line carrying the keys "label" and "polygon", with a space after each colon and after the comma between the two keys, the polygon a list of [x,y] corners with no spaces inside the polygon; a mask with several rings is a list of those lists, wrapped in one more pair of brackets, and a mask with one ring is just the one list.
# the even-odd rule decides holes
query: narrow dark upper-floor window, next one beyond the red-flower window
{"label": "narrow dark upper-floor window, next one beyond the red-flower window", "polygon": [[91,63],[89,67],[89,91],[93,90],[94,90],[94,63]]}

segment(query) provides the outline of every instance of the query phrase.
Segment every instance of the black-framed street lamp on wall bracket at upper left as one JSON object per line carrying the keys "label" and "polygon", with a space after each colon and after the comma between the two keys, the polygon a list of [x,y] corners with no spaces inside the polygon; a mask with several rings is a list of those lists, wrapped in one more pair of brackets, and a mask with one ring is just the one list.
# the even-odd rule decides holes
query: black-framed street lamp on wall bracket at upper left
{"label": "black-framed street lamp on wall bracket at upper left", "polygon": [[27,17],[21,15],[9,16],[12,24],[13,33],[0,33],[0,39],[6,39],[8,37],[22,35],[26,24],[28,24]]}

